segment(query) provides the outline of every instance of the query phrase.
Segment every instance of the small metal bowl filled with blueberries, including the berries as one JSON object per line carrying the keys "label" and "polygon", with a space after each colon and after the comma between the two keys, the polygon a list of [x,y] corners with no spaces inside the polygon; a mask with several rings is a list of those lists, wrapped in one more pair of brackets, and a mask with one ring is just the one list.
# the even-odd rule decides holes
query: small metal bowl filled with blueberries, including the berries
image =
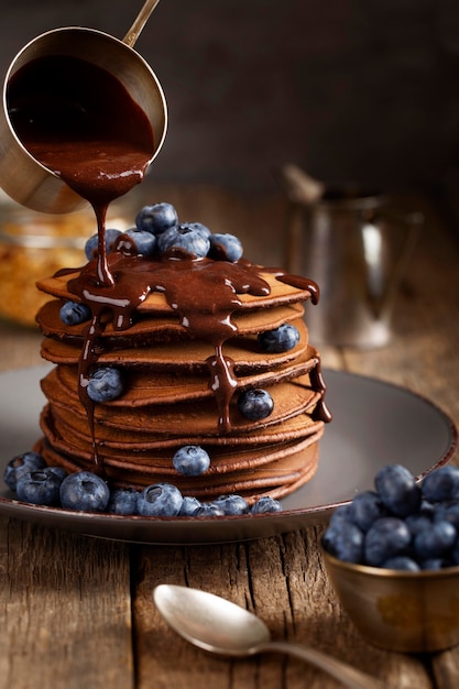
{"label": "small metal bowl filled with blueberries, including the berries", "polygon": [[425,653],[459,644],[459,468],[418,482],[387,464],[374,490],[335,510],[326,568],[357,630],[375,646]]}

